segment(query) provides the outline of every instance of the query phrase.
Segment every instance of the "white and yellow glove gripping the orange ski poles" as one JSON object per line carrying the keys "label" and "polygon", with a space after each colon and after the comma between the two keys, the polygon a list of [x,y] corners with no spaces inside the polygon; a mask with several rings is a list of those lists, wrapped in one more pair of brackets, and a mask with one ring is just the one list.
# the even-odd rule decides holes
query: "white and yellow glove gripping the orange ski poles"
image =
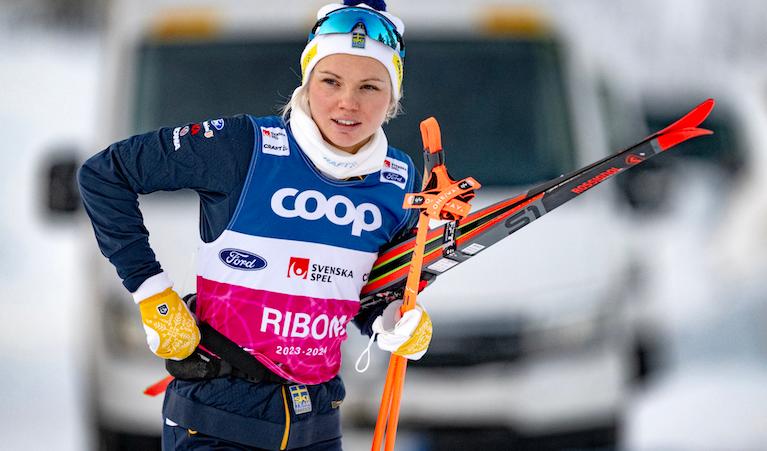
{"label": "white and yellow glove gripping the orange ski poles", "polygon": [[431,343],[431,318],[420,305],[400,315],[402,301],[394,301],[373,322],[373,332],[378,335],[378,347],[410,360],[418,360],[426,354]]}

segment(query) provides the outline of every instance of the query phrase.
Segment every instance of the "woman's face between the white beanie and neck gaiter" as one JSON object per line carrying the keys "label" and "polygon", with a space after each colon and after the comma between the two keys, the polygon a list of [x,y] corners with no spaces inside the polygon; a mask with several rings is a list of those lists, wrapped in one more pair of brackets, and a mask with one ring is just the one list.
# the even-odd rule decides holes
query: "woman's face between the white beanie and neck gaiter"
{"label": "woman's face between the white beanie and neck gaiter", "polygon": [[366,56],[326,56],[309,78],[309,109],[322,137],[352,154],[383,124],[391,98],[389,73]]}

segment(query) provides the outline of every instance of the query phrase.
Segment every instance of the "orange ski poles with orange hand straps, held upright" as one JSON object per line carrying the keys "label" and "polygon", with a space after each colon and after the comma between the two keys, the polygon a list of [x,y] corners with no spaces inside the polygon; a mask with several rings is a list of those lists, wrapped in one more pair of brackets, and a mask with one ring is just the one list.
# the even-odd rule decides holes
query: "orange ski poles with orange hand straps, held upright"
{"label": "orange ski poles with orange hand straps, held upright", "polygon": [[[459,219],[469,214],[469,201],[474,197],[474,191],[480,184],[471,177],[456,182],[445,168],[445,154],[442,150],[442,138],[439,124],[433,117],[421,122],[421,136],[424,147],[424,185],[420,193],[405,196],[403,208],[420,210],[418,229],[412,248],[412,258],[407,281],[404,287],[404,302],[401,312],[404,313],[415,307],[416,297],[421,286],[421,263],[423,261],[426,237],[429,231],[429,221],[450,220],[455,224]],[[389,359],[389,369],[386,374],[381,407],[378,411],[375,433],[373,435],[373,451],[381,449],[381,442],[386,432],[384,449],[392,451],[397,435],[399,421],[400,399],[405,381],[407,359],[392,354]]]}

